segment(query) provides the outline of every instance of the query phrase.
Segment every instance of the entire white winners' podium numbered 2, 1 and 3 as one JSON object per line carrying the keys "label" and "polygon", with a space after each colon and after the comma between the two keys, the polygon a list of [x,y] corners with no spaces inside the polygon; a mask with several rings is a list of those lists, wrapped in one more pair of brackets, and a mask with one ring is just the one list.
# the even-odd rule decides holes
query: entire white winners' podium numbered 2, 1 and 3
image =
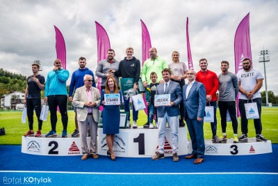
{"label": "entire white winners' podium numbered 2, 1 and 3", "polygon": [[[90,137],[87,138],[90,144]],[[106,155],[108,146],[106,135],[102,128],[98,129],[98,153]],[[192,152],[191,141],[188,141],[186,127],[179,127],[178,155],[188,155]],[[205,140],[205,155],[258,155],[272,153],[271,141],[256,141],[250,138],[239,143],[227,139],[222,143],[214,143],[211,139]],[[158,129],[120,129],[115,134],[113,149],[116,157],[152,157],[158,148]],[[171,130],[165,130],[165,156],[172,156]],[[22,153],[32,155],[68,156],[82,155],[79,137],[22,137]]]}

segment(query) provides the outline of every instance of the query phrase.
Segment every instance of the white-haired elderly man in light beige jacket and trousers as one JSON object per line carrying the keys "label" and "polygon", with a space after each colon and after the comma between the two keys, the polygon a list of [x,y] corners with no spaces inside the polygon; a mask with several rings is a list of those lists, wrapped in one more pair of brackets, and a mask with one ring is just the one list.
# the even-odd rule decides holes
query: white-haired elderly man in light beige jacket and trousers
{"label": "white-haired elderly man in light beige jacket and trousers", "polygon": [[[91,75],[83,77],[84,86],[76,89],[74,99],[72,100],[76,107],[77,121],[81,138],[81,148],[83,156],[81,160],[87,160],[92,155],[92,158],[97,159],[97,125],[99,122],[99,90],[92,86],[93,78]],[[87,126],[90,128],[90,148],[87,144]]]}

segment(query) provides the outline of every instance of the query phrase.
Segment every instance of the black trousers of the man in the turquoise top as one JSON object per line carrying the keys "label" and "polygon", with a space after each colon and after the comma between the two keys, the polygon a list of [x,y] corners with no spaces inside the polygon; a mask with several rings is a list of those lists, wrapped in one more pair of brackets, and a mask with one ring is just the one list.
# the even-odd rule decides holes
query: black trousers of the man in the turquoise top
{"label": "black trousers of the man in the turquoise top", "polygon": [[67,95],[48,95],[47,103],[50,111],[51,130],[56,131],[57,107],[59,107],[63,130],[67,130]]}

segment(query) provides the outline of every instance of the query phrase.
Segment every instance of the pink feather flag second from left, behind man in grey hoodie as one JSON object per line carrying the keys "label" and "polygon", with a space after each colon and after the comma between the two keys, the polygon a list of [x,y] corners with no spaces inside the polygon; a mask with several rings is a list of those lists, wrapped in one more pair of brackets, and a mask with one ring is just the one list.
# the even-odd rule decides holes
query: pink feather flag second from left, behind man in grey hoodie
{"label": "pink feather flag second from left, behind man in grey hoodie", "polygon": [[[106,59],[108,49],[110,49],[110,40],[104,29],[98,22],[95,22],[97,29],[97,64],[99,61]],[[101,93],[101,78],[97,77],[97,88],[99,93]],[[99,107],[102,111],[103,107]]]}

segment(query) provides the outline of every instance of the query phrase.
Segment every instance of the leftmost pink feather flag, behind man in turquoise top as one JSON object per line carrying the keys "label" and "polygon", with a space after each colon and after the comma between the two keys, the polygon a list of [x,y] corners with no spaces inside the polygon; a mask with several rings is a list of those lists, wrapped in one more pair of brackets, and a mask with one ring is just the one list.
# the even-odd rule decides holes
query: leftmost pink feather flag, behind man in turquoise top
{"label": "leftmost pink feather flag, behind man in turquoise top", "polygon": [[62,67],[67,69],[67,60],[66,60],[66,50],[65,50],[65,40],[60,32],[60,30],[54,25],[56,32],[56,54],[57,58],[62,61]]}

